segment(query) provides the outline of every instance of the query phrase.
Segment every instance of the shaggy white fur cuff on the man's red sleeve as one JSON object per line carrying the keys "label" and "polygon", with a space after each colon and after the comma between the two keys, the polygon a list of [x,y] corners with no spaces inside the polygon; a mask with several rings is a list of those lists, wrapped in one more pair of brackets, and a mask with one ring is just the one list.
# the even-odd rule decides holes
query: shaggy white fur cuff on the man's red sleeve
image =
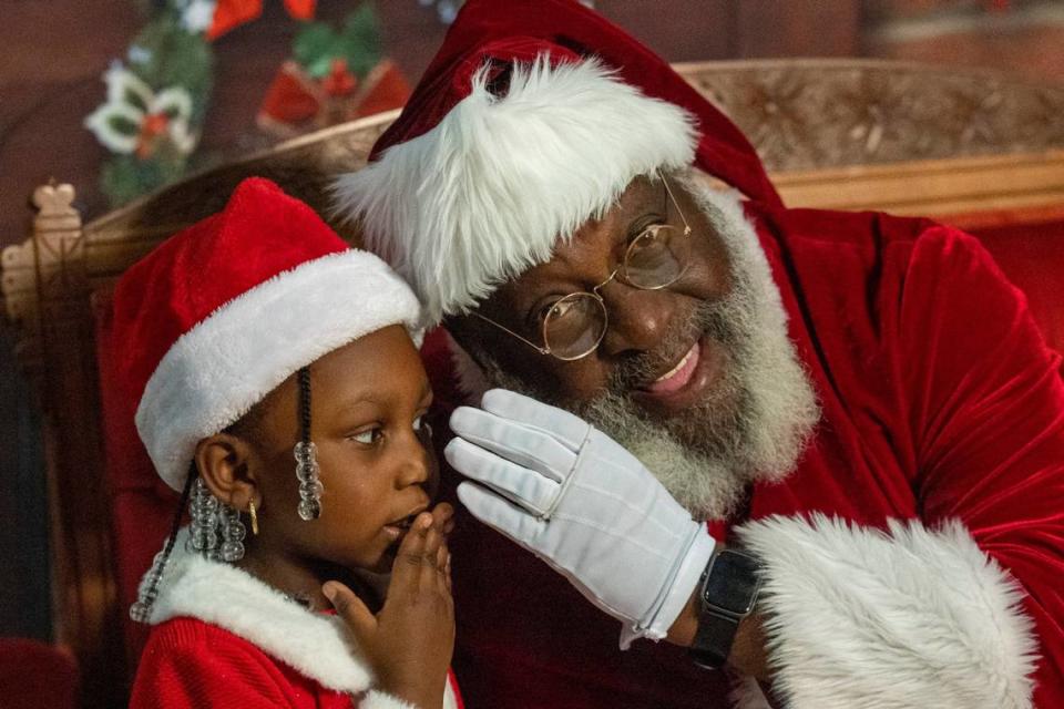
{"label": "shaggy white fur cuff on the man's red sleeve", "polygon": [[1031,707],[1022,590],[961,523],[883,532],[776,516],[739,534],[766,564],[760,608],[786,706]]}

